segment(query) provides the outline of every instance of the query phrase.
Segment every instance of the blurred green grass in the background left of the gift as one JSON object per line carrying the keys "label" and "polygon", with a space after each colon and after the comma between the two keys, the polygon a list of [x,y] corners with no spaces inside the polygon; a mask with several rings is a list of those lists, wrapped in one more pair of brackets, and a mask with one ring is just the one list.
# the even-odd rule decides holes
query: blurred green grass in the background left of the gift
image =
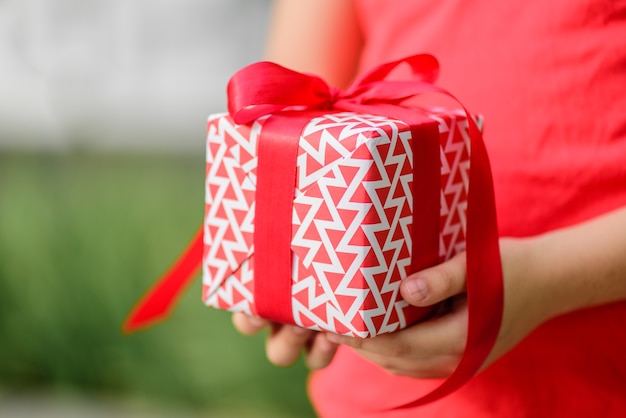
{"label": "blurred green grass in the background left of the gift", "polygon": [[[313,416],[301,363],[204,307],[124,336],[129,308],[203,215],[202,156],[0,154],[0,388],[167,403],[202,415]],[[239,414],[239,415],[238,415]]]}

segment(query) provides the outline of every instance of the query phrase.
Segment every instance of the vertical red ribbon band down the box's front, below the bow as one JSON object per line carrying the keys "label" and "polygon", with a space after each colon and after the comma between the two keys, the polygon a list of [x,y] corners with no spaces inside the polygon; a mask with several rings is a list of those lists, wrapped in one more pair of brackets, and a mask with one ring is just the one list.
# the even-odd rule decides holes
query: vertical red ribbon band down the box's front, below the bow
{"label": "vertical red ribbon band down the box's front, below the bow", "polygon": [[308,112],[281,112],[263,124],[254,208],[256,314],[295,324],[291,306],[291,220],[300,133]]}

